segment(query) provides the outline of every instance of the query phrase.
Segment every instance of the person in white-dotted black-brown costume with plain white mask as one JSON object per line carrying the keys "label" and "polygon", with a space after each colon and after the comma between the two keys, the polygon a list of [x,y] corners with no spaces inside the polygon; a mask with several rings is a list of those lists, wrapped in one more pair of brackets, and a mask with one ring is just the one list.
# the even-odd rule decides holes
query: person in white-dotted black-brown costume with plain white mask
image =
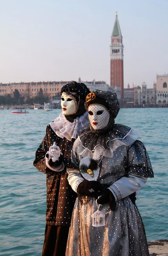
{"label": "person in white-dotted black-brown costume with plain white mask", "polygon": [[[78,134],[89,127],[84,102],[89,89],[73,81],[61,90],[62,113],[46,128],[46,135],[36,151],[34,166],[47,175],[47,210],[42,256],[65,255],[67,236],[76,193],[67,181],[70,154]],[[59,160],[48,160],[49,147],[56,142]]]}

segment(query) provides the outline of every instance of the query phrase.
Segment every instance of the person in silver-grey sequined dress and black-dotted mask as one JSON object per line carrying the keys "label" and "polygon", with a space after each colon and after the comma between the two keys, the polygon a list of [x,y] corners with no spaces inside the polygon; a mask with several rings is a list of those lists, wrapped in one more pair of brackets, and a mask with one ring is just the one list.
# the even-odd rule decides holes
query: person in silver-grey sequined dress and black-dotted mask
{"label": "person in silver-grey sequined dress and black-dotted mask", "polygon": [[115,124],[115,93],[95,90],[86,109],[90,129],[73,144],[74,166],[67,169],[78,197],[66,256],[149,256],[135,204],[138,190],[154,177],[146,148],[136,131]]}

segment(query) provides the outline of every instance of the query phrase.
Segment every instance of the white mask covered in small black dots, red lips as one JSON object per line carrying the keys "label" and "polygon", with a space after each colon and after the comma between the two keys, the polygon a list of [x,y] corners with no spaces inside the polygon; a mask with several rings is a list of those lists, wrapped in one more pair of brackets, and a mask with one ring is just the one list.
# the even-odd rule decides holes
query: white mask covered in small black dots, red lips
{"label": "white mask covered in small black dots, red lips", "polygon": [[88,107],[90,124],[94,130],[101,130],[109,123],[109,111],[103,105],[91,104]]}

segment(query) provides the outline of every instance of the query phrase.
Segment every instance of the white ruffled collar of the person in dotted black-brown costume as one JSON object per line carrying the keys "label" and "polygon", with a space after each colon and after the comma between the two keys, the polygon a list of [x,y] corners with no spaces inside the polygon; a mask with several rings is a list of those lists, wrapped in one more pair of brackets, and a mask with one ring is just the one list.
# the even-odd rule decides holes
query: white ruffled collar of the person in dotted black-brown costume
{"label": "white ruffled collar of the person in dotted black-brown costume", "polygon": [[83,116],[74,119],[73,123],[69,122],[63,113],[60,113],[60,115],[50,123],[50,126],[57,136],[61,138],[65,137],[67,140],[76,140],[78,135],[84,129],[89,128],[87,111],[83,114]]}

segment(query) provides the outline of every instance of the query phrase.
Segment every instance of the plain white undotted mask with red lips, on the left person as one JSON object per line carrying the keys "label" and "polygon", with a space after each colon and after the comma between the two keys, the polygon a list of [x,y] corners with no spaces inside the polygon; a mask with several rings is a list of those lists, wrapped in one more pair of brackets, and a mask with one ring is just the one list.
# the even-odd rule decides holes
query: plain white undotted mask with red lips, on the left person
{"label": "plain white undotted mask with red lips, on the left person", "polygon": [[61,107],[64,115],[73,115],[78,111],[78,104],[76,100],[66,93],[62,93]]}

